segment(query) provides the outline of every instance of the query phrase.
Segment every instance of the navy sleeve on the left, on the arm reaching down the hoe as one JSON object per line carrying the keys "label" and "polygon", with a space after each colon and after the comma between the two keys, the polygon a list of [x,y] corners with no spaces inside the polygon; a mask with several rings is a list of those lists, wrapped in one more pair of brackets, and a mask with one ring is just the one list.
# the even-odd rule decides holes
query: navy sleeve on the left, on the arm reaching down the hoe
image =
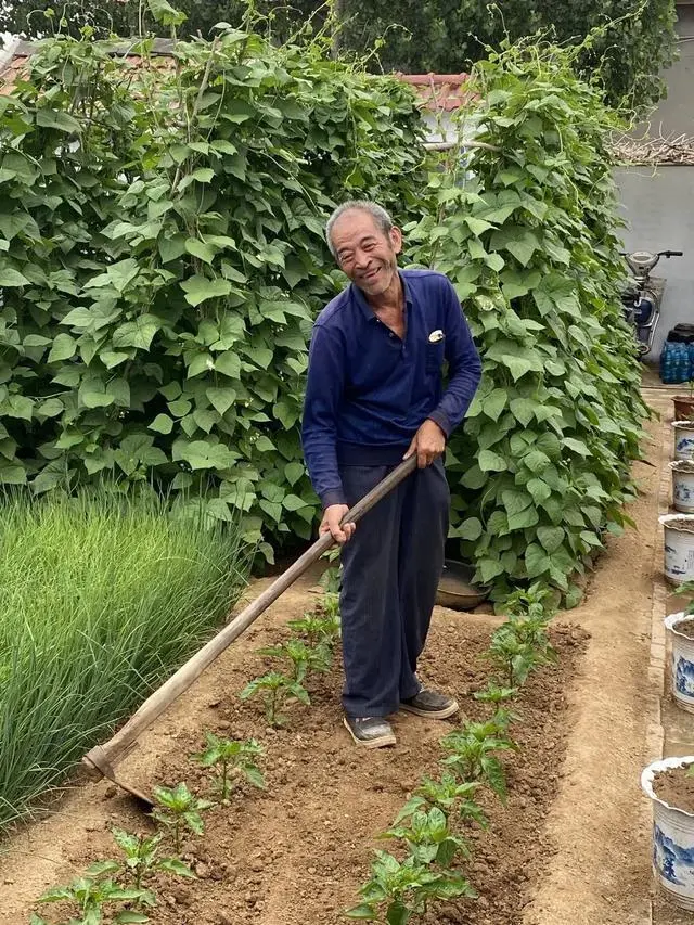
{"label": "navy sleeve on the left, on the arm reaching down the hoe", "polygon": [[342,336],[322,324],[313,326],[304,400],[301,442],[306,466],[323,508],[346,504],[337,468],[337,415],[345,383]]}

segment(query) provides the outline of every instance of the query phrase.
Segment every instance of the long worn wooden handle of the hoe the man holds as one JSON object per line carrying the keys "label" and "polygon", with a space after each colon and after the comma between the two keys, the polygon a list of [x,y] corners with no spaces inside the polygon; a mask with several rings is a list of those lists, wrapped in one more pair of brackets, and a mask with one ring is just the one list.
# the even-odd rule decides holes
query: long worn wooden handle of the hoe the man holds
{"label": "long worn wooden handle of the hoe the man holds", "polygon": [[[361,501],[345,515],[343,524],[356,524],[374,504],[385,498],[399,485],[416,466],[416,454],[403,463],[378,483]],[[168,681],[162,684],[128,722],[103,745],[97,745],[82,758],[82,762],[91,771],[98,770],[104,776],[113,775],[113,766],[129,750],[136,740],[151,725],[174,701],[187,691],[200,678],[203,671],[239,637],[248,629],[250,624],[273,604],[280,594],[293,584],[314,562],[334,544],[331,534],[323,534],[312,547],[297,558],[277,581],[273,581],[253,603],[234,617],[217,635],[213,637],[195,655],[182,665]],[[107,773],[110,772],[110,773]]]}

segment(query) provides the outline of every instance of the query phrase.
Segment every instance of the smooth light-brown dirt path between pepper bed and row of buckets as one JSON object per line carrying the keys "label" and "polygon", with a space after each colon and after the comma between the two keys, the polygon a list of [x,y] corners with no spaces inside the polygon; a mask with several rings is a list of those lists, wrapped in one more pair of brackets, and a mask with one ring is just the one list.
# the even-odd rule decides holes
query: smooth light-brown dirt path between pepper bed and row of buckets
{"label": "smooth light-brown dirt path between pepper bed and row of buckets", "polygon": [[[648,394],[667,414],[667,396]],[[574,693],[565,776],[548,834],[557,852],[525,925],[641,925],[651,918],[651,807],[639,785],[657,714],[648,683],[651,614],[659,549],[658,487],[667,465],[665,421],[648,425],[637,464],[643,494],[630,508],[637,530],[609,544],[586,603],[571,612],[591,634]]]}

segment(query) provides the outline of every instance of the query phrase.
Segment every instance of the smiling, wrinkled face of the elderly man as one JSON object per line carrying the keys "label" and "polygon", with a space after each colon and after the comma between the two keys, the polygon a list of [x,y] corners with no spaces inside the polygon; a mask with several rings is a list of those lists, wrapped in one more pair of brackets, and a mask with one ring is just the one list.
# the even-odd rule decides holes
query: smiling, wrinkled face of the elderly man
{"label": "smiling, wrinkled face of the elderly man", "polygon": [[386,234],[363,209],[348,209],[333,226],[331,240],[339,268],[368,296],[382,295],[398,272],[402,234]]}

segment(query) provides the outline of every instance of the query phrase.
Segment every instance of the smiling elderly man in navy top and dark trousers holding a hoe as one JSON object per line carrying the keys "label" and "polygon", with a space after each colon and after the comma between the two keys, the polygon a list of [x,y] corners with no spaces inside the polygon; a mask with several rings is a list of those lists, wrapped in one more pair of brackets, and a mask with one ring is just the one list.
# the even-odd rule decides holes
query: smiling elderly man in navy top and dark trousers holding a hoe
{"label": "smiling elderly man in navy top and dark trousers holding a hoe", "polygon": [[[441,457],[481,364],[448,279],[398,270],[402,234],[385,209],[345,203],[326,237],[351,285],[313,326],[303,442],[323,504],[320,531],[343,544],[344,722],[357,744],[380,748],[395,744],[386,717],[397,710],[430,719],[458,710],[420,682],[416,663],[448,534]],[[340,527],[349,508],[414,453],[413,475],[358,528]]]}

